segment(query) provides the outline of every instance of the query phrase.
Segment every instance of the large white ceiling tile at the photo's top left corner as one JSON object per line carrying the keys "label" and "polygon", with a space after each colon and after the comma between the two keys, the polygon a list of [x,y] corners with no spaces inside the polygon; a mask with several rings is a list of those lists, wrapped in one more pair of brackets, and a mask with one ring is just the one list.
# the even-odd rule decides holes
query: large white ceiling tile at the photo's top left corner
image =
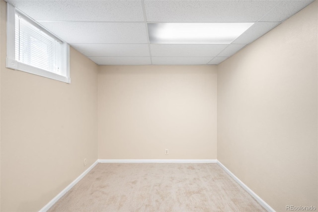
{"label": "large white ceiling tile at the photo's top left corner", "polygon": [[144,21],[140,0],[8,0],[35,20]]}

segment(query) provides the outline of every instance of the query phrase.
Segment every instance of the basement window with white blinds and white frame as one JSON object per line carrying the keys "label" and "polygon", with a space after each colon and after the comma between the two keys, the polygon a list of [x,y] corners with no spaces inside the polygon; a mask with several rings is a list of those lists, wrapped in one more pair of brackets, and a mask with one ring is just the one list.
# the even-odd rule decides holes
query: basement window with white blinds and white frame
{"label": "basement window with white blinds and white frame", "polygon": [[70,83],[69,45],[7,4],[6,67]]}

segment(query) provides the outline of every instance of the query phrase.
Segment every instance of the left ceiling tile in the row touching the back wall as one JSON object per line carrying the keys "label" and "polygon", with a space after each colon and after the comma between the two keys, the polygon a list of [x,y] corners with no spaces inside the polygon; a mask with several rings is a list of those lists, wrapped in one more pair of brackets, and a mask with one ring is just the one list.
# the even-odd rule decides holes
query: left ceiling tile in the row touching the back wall
{"label": "left ceiling tile in the row touching the back wall", "polygon": [[88,57],[97,65],[151,65],[150,57]]}

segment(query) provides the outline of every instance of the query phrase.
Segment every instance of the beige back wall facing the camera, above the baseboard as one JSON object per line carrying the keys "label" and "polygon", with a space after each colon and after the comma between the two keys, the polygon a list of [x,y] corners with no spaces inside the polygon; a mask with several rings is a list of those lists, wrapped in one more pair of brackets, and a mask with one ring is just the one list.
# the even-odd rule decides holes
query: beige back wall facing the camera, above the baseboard
{"label": "beige back wall facing the camera, above the baseboard", "polygon": [[99,159],[216,159],[216,115],[216,66],[99,67]]}

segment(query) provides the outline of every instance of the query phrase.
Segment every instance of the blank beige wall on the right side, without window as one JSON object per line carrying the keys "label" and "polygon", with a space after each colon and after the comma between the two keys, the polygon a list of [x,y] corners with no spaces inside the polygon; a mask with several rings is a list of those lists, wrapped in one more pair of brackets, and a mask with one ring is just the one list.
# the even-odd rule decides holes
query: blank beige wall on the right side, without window
{"label": "blank beige wall on the right side, without window", "polygon": [[218,66],[218,160],[277,211],[318,208],[317,4]]}

